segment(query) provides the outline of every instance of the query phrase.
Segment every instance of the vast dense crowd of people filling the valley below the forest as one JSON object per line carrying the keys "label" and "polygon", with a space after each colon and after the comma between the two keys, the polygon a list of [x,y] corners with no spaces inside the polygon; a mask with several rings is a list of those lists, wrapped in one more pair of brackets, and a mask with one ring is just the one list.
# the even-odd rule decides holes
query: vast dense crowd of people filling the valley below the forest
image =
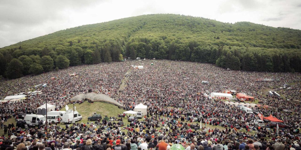
{"label": "vast dense crowd of people filling the valley below the forest", "polygon": [[[143,69],[130,67],[139,63],[143,63]],[[76,75],[70,76],[73,73]],[[125,77],[125,86],[119,90]],[[279,81],[256,81],[263,78]],[[0,137],[0,150],[166,150],[175,144],[185,150],[299,150],[300,104],[286,98],[299,98],[300,78],[299,73],[229,71],[212,64],[146,60],[75,66],[3,81],[1,98],[27,92],[27,88],[33,90],[39,84],[47,83],[47,87],[36,89],[42,90],[42,94],[28,101],[0,105],[0,124],[5,131]],[[293,89],[276,88],[287,82],[296,84]],[[279,90],[285,98],[266,97],[261,91],[265,88]],[[64,128],[57,124],[17,128],[6,122],[10,115],[36,113],[37,106],[43,105],[45,99],[60,110],[70,98],[89,89],[115,98],[125,110],[133,110],[139,103],[147,105],[147,115],[142,121],[127,122],[114,116],[119,122],[77,122]],[[273,115],[290,128],[260,127],[254,123],[259,119],[256,115],[225,105],[221,99],[212,99],[203,94],[205,90],[236,90],[253,95],[270,106],[270,109],[259,108],[263,116]],[[283,108],[293,113],[284,112]]]}

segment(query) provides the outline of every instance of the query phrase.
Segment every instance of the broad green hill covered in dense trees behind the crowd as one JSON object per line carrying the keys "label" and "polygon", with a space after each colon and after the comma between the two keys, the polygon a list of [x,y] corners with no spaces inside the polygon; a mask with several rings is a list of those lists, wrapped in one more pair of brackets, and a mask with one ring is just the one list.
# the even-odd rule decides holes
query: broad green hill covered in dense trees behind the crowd
{"label": "broad green hill covered in dense trees behind the crowd", "polygon": [[301,31],[295,29],[175,14],[142,15],[61,30],[1,48],[0,75],[17,78],[122,57],[300,72],[300,46]]}

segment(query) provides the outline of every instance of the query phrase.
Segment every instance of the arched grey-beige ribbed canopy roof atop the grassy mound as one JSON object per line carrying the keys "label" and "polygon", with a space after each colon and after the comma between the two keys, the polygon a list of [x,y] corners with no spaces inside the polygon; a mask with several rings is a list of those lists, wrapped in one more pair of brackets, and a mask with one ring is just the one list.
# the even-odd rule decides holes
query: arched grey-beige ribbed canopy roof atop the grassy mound
{"label": "arched grey-beige ribbed canopy roof atop the grassy mound", "polygon": [[113,98],[104,95],[104,94],[96,94],[93,92],[87,93],[87,94],[79,94],[74,96],[73,98],[71,98],[71,102],[76,102],[76,101],[82,101],[82,100],[90,100],[92,102],[106,102],[106,103],[110,103],[110,104],[114,104],[116,106],[120,106],[123,107],[122,104],[120,104],[119,102],[115,101]]}

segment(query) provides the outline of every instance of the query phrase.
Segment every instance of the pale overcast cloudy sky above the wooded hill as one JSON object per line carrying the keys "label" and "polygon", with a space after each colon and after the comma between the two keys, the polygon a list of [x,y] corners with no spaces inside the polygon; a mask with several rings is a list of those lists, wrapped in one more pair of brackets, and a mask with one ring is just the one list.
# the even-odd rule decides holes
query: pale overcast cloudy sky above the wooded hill
{"label": "pale overcast cloudy sky above the wooded hill", "polygon": [[0,47],[66,28],[154,13],[301,29],[300,0],[1,0]]}

